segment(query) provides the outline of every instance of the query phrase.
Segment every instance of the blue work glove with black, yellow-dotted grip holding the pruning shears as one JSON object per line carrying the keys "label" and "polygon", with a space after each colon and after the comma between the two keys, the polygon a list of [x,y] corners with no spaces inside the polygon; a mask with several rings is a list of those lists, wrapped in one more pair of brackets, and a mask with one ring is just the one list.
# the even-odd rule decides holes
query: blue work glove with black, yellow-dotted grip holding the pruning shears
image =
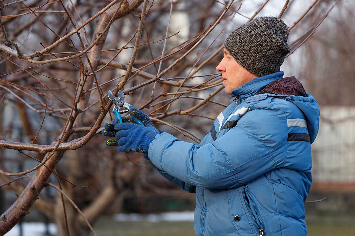
{"label": "blue work glove with black, yellow-dotted grip holding the pruning shears", "polygon": [[113,119],[112,123],[106,123],[102,134],[107,137],[115,137],[116,139],[106,140],[108,146],[118,146],[117,151],[137,151],[148,153],[149,144],[159,133],[149,117],[142,111],[135,108],[130,109],[132,116],[141,120],[145,126],[137,125],[133,118],[122,117],[122,122],[118,123],[118,119]]}

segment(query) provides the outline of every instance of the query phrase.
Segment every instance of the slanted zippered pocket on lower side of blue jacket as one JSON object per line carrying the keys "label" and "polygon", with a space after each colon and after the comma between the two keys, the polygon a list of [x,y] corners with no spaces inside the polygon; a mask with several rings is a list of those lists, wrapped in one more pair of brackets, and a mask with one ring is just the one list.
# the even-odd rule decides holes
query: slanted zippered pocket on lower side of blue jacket
{"label": "slanted zippered pocket on lower side of blue jacket", "polygon": [[244,188],[242,189],[242,195],[244,198],[245,206],[247,208],[248,213],[250,214],[250,217],[252,219],[255,228],[257,229],[260,236],[265,236],[264,223],[260,217],[259,210],[255,204],[255,201],[252,198],[248,185],[245,185]]}

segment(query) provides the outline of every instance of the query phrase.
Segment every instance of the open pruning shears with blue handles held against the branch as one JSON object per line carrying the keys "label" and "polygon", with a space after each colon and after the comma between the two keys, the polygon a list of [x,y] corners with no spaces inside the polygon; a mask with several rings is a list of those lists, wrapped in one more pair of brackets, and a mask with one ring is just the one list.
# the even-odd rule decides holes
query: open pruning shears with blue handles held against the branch
{"label": "open pruning shears with blue handles held against the branch", "polygon": [[[113,96],[111,90],[108,91],[107,93],[108,98],[110,101],[114,104],[114,108],[112,112],[116,115],[116,118],[119,120],[119,123],[122,123],[122,117],[121,114],[129,112],[130,115],[131,111],[130,109],[132,108],[132,105],[129,103],[125,103],[125,94],[123,93],[122,90],[119,90],[117,93],[117,97]],[[138,125],[143,125],[143,122],[136,117],[132,116],[132,118],[136,121]],[[144,125],[143,125],[144,126]]]}

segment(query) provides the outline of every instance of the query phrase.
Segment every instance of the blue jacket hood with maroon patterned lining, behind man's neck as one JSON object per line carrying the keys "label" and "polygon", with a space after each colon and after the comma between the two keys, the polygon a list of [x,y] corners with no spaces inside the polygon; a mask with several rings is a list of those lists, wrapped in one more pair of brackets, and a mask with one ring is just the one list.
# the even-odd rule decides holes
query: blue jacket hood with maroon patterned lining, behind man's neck
{"label": "blue jacket hood with maroon patterned lining, behind man's neck", "polygon": [[319,128],[319,106],[316,99],[306,93],[301,82],[296,77],[285,77],[274,80],[257,94],[271,93],[282,95],[284,99],[295,104],[307,117],[308,133],[311,143],[316,139]]}

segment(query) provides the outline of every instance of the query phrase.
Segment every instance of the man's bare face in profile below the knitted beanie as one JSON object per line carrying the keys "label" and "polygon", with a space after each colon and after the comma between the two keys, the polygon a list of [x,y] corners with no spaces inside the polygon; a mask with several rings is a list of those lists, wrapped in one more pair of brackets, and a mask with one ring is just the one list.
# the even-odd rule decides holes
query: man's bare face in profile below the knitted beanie
{"label": "man's bare face in profile below the knitted beanie", "polygon": [[223,59],[217,65],[216,70],[222,73],[223,85],[227,94],[257,77],[237,63],[225,48]]}

